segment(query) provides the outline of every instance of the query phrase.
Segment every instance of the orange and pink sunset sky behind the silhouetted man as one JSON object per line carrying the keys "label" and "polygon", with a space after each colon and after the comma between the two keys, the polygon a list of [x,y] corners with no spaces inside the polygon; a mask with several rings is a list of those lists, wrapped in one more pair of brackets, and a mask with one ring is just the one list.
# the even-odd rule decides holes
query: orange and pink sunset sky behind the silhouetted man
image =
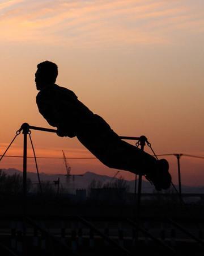
{"label": "orange and pink sunset sky behind the silhouetted man", "polygon": [[[57,84],[119,135],[146,135],[157,154],[204,156],[203,0],[0,1],[0,31],[0,155],[23,122],[49,127],[36,106],[34,75],[50,60]],[[32,138],[37,156],[92,156],[76,138],[39,131]],[[19,135],[8,155],[22,155],[22,145]],[[176,158],[167,159],[177,184]],[[68,162],[73,174],[116,172],[96,159]],[[9,167],[22,170],[22,159],[0,162]],[[39,169],[65,172],[62,159],[39,160]],[[204,185],[204,159],[183,156],[181,171],[183,184]]]}

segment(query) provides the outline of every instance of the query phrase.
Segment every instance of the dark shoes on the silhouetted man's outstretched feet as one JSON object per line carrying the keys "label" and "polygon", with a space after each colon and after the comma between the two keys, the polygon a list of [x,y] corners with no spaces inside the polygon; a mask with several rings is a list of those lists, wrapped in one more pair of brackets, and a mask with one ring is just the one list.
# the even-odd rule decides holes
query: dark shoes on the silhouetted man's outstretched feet
{"label": "dark shoes on the silhouetted man's outstretched feet", "polygon": [[153,183],[157,191],[168,189],[171,185],[171,174],[168,172],[169,164],[167,160],[160,159],[156,162],[155,167],[145,175],[146,179]]}

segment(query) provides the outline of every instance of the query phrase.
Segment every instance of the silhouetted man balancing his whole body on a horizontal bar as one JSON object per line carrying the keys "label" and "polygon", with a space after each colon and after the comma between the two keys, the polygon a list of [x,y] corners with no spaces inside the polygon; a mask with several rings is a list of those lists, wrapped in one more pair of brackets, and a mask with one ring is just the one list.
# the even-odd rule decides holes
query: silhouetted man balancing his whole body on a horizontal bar
{"label": "silhouetted man balancing his whole body on a horizontal bar", "polygon": [[39,112],[49,125],[57,127],[60,137],[78,140],[110,168],[145,175],[155,188],[167,189],[171,184],[168,162],[156,160],[139,148],[122,141],[107,122],[94,114],[69,89],[55,84],[57,65],[44,61],[37,65],[35,82]]}

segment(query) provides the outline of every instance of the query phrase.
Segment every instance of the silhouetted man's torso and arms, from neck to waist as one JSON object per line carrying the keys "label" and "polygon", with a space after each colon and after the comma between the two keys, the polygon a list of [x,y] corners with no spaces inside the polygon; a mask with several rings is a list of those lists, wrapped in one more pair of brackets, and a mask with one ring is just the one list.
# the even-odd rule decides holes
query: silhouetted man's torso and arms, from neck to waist
{"label": "silhouetted man's torso and arms, from neck to waist", "polygon": [[68,137],[77,136],[80,141],[100,133],[108,135],[113,130],[99,115],[91,112],[78,100],[74,92],[56,84],[42,89],[36,97],[39,112],[52,126]]}

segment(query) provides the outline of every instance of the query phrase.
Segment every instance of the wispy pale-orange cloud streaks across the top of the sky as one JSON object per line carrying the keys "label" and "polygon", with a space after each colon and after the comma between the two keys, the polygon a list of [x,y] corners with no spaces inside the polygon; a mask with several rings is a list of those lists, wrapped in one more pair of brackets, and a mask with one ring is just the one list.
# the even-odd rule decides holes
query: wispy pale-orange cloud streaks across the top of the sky
{"label": "wispy pale-orange cloud streaks across the top of the sky", "polygon": [[89,47],[167,44],[175,31],[190,27],[192,33],[200,33],[204,23],[203,11],[194,3],[184,5],[184,0],[14,0],[1,5],[0,38],[6,42]]}

